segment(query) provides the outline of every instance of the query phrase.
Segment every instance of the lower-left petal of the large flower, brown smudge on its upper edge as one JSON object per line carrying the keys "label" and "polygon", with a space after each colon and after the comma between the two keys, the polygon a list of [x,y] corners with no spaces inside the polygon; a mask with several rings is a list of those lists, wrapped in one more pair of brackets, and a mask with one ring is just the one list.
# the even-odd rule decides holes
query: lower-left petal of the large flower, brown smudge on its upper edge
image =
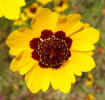
{"label": "lower-left petal of the large flower, brown smudge on its upper edge", "polygon": [[11,64],[10,69],[13,72],[19,71],[21,75],[27,73],[36,61],[31,57],[32,50],[25,50],[16,56]]}

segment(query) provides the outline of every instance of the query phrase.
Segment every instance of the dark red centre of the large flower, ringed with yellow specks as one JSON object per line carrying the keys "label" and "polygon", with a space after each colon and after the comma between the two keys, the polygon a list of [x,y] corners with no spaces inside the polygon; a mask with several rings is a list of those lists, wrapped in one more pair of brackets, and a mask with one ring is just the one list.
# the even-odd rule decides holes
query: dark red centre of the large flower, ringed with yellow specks
{"label": "dark red centre of the large flower, ringed with yellow specks", "polygon": [[59,68],[70,56],[72,40],[63,31],[53,34],[44,30],[40,38],[34,38],[30,47],[34,49],[32,58],[39,61],[42,68]]}

